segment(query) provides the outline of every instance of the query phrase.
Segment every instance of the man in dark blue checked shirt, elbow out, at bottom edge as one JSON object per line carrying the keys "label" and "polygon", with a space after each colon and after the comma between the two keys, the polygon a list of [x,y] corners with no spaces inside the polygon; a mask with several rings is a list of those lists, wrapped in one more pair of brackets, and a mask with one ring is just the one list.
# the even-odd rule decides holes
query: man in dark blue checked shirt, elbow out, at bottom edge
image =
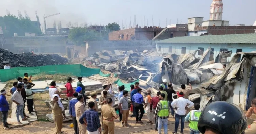
{"label": "man in dark blue checked shirt, elbow out, at bottom edge", "polygon": [[[79,119],[79,123],[87,125],[88,134],[101,134],[101,125],[98,111],[94,110],[94,102],[89,102],[89,110],[86,110]],[[86,121],[86,123],[85,123]]]}

